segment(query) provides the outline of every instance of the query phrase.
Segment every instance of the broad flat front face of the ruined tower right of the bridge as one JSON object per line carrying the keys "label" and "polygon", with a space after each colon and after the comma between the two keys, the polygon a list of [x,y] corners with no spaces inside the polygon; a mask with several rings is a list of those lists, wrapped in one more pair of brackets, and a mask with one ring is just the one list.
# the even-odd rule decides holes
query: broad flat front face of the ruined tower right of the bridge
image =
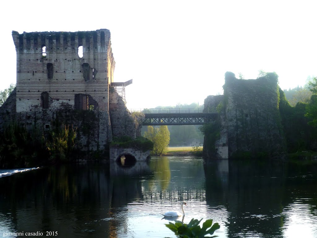
{"label": "broad flat front face of the ruined tower right of the bridge", "polygon": [[239,151],[253,156],[285,152],[277,77],[226,78],[224,95],[229,156]]}

